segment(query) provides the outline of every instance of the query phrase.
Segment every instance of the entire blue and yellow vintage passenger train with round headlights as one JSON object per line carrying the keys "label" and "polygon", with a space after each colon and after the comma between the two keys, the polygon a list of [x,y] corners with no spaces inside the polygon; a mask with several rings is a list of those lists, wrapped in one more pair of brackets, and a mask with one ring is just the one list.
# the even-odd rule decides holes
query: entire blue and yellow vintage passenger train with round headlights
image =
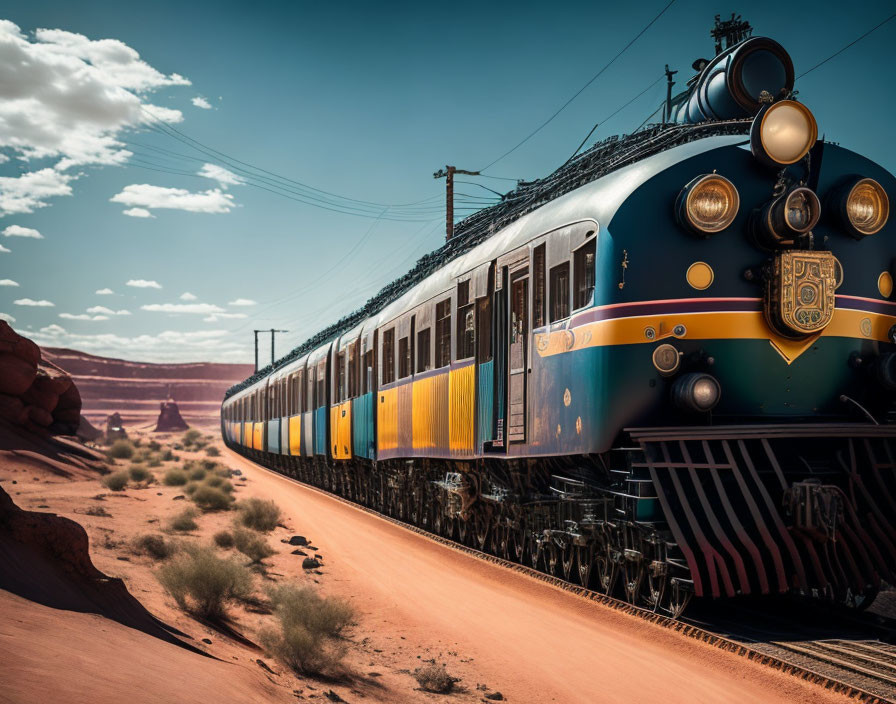
{"label": "entire blue and yellow vintage passenger train with round headlights", "polygon": [[228,446],[673,617],[867,607],[896,580],[896,180],[818,138],[780,44],[712,34],[661,123],[230,389]]}

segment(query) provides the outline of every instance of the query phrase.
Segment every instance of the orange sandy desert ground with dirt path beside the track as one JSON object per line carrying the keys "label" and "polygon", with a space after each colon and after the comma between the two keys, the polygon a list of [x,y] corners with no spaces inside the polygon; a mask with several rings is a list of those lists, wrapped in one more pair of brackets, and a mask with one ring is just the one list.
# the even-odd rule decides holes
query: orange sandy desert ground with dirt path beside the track
{"label": "orange sandy desert ground with dirt path beside the track", "polygon": [[[129,433],[138,453],[155,441],[159,457],[170,449],[177,459],[150,467],[151,483],[129,482],[121,491],[104,486],[94,464],[0,451],[0,488],[22,509],[83,525],[93,563],[139,601],[124,608],[126,599],[85,601],[81,593],[67,601],[73,588],[64,575],[0,546],[6,570],[29,575],[0,583],[8,614],[0,628],[2,702],[847,701],[269,472],[224,449],[212,426],[203,428],[208,445],[201,449],[183,449],[181,435],[152,434],[148,426]],[[239,472],[230,479],[238,501],[273,499],[282,512],[264,534],[276,554],[252,568],[255,597],[231,604],[223,623],[191,615],[165,591],[157,575],[174,558],[135,548],[147,534],[186,549],[232,530],[233,510],[202,512],[193,530],[170,528],[190,501],[164,475],[202,460]],[[115,462],[120,471],[134,459]],[[294,535],[310,546],[282,542]],[[306,556],[297,549],[320,555],[320,566],[303,569]],[[215,550],[248,562],[232,548]],[[286,583],[311,585],[354,611],[339,643],[344,661],[326,674],[298,674],[259,644],[259,632],[274,623],[265,590]],[[139,617],[134,609],[144,607],[148,614]],[[420,688],[413,673],[430,660],[457,680],[451,693]]]}

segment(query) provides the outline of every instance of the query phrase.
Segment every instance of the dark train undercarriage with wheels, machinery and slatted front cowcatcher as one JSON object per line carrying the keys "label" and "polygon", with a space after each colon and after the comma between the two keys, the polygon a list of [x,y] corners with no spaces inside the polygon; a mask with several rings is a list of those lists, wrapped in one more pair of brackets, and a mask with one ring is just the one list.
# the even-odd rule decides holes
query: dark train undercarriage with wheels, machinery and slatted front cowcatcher
{"label": "dark train undercarriage with wheels, machinery and slatted front cowcatcher", "polygon": [[888,426],[628,431],[599,456],[328,462],[233,449],[446,539],[678,617],[693,596],[853,608],[896,582]]}

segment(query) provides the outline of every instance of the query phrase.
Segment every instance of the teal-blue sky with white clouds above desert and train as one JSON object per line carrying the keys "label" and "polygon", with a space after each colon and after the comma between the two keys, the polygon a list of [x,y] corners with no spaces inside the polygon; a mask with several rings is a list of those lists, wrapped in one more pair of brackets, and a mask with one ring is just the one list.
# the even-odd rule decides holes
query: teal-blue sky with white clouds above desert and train
{"label": "teal-blue sky with white clouds above desert and train", "polygon": [[[285,328],[279,356],[440,244],[444,181],[433,171],[479,169],[507,151],[666,2],[32,0],[7,8],[0,314],[42,344],[147,361],[251,361],[253,328]],[[745,12],[754,34],[785,46],[799,74],[892,7],[677,0],[486,173],[544,176],[665,63],[683,83],[694,59],[712,55],[717,13]],[[891,171],[894,39],[896,21],[797,82],[821,133]],[[664,90],[654,85],[592,141],[635,129]],[[187,137],[165,134],[150,114]],[[263,190],[271,181],[259,180],[262,172],[255,185],[234,182],[243,167],[233,159],[366,201],[318,194],[365,217]],[[307,192],[280,183],[287,195]],[[458,191],[463,207],[492,197],[475,185]],[[96,293],[104,289],[112,293]]]}

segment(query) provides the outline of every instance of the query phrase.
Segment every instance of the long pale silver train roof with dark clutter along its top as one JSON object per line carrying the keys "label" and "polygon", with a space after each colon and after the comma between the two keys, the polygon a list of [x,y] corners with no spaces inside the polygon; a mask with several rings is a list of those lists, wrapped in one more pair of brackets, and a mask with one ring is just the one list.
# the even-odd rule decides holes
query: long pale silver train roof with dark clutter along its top
{"label": "long pale silver train roof with dark clutter along its top", "polygon": [[[498,205],[467,217],[455,236],[424,255],[407,274],[383,287],[354,313],[317,333],[273,365],[228,389],[225,399],[250,389],[272,373],[313,361],[330,343],[357,339],[451,288],[458,276],[499,254],[564,224],[592,219],[608,227],[616,209],[647,179],[679,161],[710,149],[742,142],[750,120],[655,125],[611,137],[571,159],[544,179],[520,182]],[[599,197],[597,197],[599,196]],[[353,337],[347,333],[352,332]],[[339,341],[340,346],[342,340]],[[279,375],[278,375],[279,376]]]}

